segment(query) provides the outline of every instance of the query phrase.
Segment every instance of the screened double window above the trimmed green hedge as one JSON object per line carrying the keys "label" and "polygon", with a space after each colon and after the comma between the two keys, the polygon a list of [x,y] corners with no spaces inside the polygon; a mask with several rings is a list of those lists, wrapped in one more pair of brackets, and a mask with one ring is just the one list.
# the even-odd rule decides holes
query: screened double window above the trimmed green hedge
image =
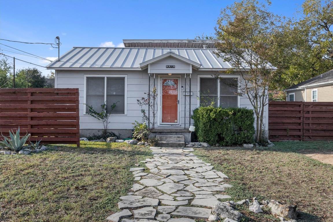
{"label": "screened double window above the trimmed green hedge", "polygon": [[200,78],[200,106],[213,105],[215,107],[237,107],[238,79],[223,78],[218,81],[216,78]]}

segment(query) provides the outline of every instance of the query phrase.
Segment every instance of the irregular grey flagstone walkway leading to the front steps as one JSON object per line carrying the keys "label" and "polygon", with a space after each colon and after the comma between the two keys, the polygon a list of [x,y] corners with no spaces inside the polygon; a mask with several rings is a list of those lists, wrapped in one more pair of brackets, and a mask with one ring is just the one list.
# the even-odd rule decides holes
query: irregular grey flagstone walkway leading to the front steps
{"label": "irregular grey flagstone walkway leading to the front steps", "polygon": [[[122,222],[195,222],[208,219],[211,207],[220,199],[230,184],[228,178],[213,169],[210,163],[189,153],[192,148],[150,147],[154,158],[142,161],[146,168],[131,168],[137,182],[127,196],[118,203],[123,209],[110,215],[109,221]],[[129,209],[135,209],[130,211]],[[171,215],[177,218],[171,218]],[[128,219],[126,217],[132,217]],[[179,218],[180,217],[180,218]],[[124,218],[124,219],[121,219]]]}

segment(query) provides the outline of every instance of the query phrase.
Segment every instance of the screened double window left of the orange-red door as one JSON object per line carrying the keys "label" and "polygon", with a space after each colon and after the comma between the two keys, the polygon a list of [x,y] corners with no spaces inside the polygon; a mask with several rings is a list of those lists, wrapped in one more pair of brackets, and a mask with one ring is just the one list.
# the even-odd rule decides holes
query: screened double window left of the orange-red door
{"label": "screened double window left of the orange-red door", "polygon": [[[95,111],[101,112],[101,105],[105,103],[111,114],[126,114],[126,77],[87,76],[86,77],[86,104]],[[111,106],[116,104],[111,111]],[[86,113],[89,108],[86,106]]]}

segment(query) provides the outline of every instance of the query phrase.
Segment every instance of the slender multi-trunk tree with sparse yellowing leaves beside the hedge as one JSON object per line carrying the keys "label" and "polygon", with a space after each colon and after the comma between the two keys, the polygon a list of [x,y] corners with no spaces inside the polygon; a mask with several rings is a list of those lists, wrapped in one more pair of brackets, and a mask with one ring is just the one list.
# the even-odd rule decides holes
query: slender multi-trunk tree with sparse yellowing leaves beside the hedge
{"label": "slender multi-trunk tree with sparse yellowing leaves beside the hedge", "polygon": [[[216,55],[231,67],[224,73],[240,75],[236,87],[241,97],[248,98],[256,116],[256,141],[263,139],[264,107],[268,88],[275,78],[275,67],[268,61],[280,47],[281,19],[267,10],[269,1],[234,2],[221,10],[215,28]],[[214,75],[221,82],[219,74]],[[226,82],[225,82],[226,83]],[[227,84],[227,83],[226,83]]]}

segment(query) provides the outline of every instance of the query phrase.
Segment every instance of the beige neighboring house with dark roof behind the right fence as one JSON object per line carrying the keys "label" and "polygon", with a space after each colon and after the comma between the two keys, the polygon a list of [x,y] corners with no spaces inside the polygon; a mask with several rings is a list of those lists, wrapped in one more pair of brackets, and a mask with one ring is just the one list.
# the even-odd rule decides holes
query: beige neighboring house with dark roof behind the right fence
{"label": "beige neighboring house with dark roof behind the right fence", "polygon": [[289,87],[287,101],[333,102],[333,70]]}

